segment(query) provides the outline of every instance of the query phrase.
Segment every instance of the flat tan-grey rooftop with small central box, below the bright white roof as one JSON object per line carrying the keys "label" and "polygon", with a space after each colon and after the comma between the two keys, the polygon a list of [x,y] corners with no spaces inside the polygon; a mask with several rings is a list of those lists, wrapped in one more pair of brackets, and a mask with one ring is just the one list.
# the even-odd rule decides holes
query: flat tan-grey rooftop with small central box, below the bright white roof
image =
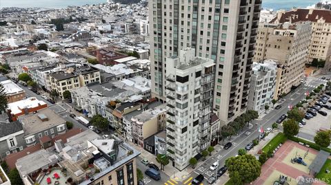
{"label": "flat tan-grey rooftop with small central box, below the bright white roof", "polygon": [[19,120],[23,124],[23,129],[26,135],[66,123],[66,120],[49,108],[41,109],[38,113],[30,113],[26,116],[21,116]]}

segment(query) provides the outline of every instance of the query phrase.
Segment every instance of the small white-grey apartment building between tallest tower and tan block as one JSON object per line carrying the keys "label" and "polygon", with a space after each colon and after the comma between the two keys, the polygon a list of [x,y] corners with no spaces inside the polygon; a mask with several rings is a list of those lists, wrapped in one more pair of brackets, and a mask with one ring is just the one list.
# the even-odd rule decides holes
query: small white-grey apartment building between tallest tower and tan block
{"label": "small white-grey apartment building between tallest tower and tan block", "polygon": [[277,80],[277,65],[269,63],[253,63],[248,109],[264,111],[274,98]]}

